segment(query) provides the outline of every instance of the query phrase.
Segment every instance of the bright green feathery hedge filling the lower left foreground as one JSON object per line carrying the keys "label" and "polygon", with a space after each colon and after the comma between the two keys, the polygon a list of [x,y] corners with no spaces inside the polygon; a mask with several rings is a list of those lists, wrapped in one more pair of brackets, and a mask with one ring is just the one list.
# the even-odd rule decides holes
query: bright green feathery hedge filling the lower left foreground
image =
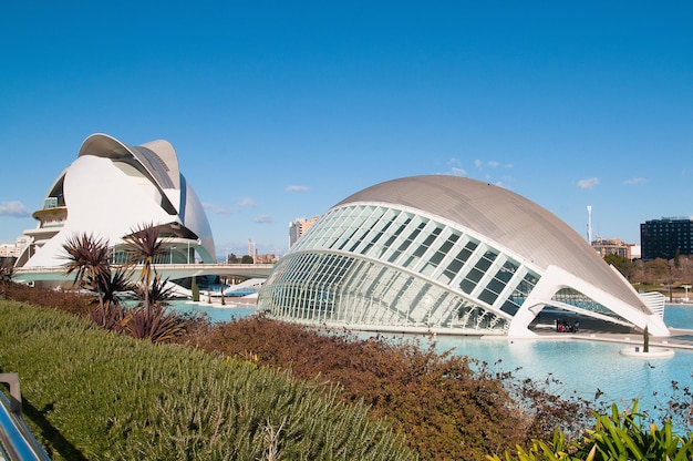
{"label": "bright green feathery hedge filling the lower left foreground", "polygon": [[333,387],[21,303],[0,300],[0,366],[53,459],[414,458]]}

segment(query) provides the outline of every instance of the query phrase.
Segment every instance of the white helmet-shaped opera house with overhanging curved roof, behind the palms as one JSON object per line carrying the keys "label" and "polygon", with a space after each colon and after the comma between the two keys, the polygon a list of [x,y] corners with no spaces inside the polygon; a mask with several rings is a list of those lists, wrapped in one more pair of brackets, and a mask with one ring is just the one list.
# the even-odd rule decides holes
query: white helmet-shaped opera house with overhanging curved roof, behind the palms
{"label": "white helmet-shaped opera house with overhanging curved roof, behind the palms", "polygon": [[174,147],[163,140],[130,146],[93,134],[77,157],[50,186],[38,225],[15,267],[50,269],[65,264],[63,244],[91,234],[113,248],[118,263],[123,237],[146,225],[158,227],[166,263],[214,263],[214,239],[203,205],[180,173]]}

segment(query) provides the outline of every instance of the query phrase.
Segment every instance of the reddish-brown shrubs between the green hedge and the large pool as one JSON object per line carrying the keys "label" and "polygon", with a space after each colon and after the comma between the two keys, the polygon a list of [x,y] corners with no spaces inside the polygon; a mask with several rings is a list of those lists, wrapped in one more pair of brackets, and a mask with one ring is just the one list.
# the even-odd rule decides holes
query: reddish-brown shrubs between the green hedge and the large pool
{"label": "reddish-brown shrubs between the green hedge and the large pool", "polygon": [[537,432],[541,424],[518,408],[503,378],[466,357],[416,344],[324,334],[261,316],[218,324],[186,340],[288,368],[302,379],[341,385],[343,399],[363,400],[374,418],[393,420],[422,459],[484,459],[542,436]]}

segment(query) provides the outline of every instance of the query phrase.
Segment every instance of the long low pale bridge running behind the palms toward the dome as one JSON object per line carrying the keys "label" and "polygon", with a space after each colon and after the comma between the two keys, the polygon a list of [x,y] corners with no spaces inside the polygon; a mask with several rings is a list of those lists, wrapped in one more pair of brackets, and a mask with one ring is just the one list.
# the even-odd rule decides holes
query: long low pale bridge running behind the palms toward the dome
{"label": "long low pale bridge running behind the palms toward the dome", "polygon": [[[113,266],[117,267],[117,266]],[[142,265],[132,266],[135,274]],[[154,266],[162,278],[178,278],[219,275],[240,278],[267,278],[273,264],[157,264]],[[74,275],[66,275],[64,267],[18,267],[12,275],[14,281],[71,281]]]}

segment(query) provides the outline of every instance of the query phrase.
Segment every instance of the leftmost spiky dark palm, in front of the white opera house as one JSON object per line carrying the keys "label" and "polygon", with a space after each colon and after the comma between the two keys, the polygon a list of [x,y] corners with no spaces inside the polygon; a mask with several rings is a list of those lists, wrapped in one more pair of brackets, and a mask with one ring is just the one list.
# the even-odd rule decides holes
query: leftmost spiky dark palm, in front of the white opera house
{"label": "leftmost spiky dark palm, in front of the white opera house", "polygon": [[63,244],[65,252],[65,274],[74,274],[74,285],[96,291],[102,318],[105,319],[103,287],[111,279],[108,264],[108,243],[93,234],[70,237]]}

